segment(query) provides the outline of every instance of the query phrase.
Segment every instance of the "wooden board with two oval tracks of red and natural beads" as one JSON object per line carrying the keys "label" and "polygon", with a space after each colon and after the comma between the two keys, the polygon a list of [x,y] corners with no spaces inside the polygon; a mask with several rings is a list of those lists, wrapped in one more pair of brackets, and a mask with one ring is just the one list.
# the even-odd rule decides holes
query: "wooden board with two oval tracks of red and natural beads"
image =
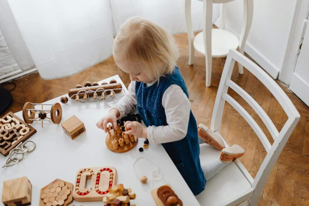
{"label": "wooden board with two oval tracks of red and natural beads", "polygon": [[[88,179],[91,179],[90,188],[86,187]],[[102,201],[116,183],[117,171],[114,167],[82,168],[75,179],[73,198],[80,202]]]}

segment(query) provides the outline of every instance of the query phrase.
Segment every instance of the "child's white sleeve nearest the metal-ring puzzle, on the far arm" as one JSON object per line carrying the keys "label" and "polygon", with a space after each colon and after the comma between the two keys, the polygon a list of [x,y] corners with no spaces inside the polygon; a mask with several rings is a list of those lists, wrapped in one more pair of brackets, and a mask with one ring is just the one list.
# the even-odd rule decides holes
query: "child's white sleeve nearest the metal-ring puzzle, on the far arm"
{"label": "child's white sleeve nearest the metal-ring puzzle, on the far arm", "polygon": [[136,105],[137,100],[135,96],[135,81],[131,81],[125,96],[122,97],[115,106],[112,106],[111,109],[117,109],[120,113],[119,118],[122,118],[126,114],[135,112]]}

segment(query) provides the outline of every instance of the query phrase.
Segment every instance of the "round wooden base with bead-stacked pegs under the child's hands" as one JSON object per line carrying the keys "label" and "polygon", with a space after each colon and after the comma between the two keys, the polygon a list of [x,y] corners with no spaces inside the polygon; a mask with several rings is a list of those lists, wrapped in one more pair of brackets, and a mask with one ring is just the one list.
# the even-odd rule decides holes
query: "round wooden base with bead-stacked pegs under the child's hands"
{"label": "round wooden base with bead-stacked pegs under the child's hands", "polygon": [[131,150],[138,142],[138,138],[133,135],[124,135],[122,132],[124,126],[118,124],[117,129],[108,125],[108,134],[105,137],[105,144],[109,150],[116,153],[124,153]]}

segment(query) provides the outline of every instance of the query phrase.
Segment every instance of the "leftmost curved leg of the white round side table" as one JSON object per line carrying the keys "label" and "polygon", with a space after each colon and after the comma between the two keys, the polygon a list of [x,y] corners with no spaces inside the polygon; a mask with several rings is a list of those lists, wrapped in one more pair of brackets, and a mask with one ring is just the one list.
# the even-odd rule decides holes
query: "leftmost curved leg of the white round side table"
{"label": "leftmost curved leg of the white round side table", "polygon": [[185,15],[186,15],[186,23],[187,23],[187,34],[189,41],[189,65],[193,65],[194,61],[194,33],[192,28],[192,19],[191,19],[191,0],[185,0]]}

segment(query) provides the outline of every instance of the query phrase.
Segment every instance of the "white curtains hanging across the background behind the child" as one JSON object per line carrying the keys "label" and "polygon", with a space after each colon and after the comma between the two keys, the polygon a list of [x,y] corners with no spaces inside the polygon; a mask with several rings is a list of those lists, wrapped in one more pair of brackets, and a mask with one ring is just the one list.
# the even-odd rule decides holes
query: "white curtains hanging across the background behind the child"
{"label": "white curtains hanging across the background behind the child", "polygon": [[[0,1],[8,2],[14,16],[11,25],[16,22],[22,36],[15,32],[12,39],[23,39],[44,79],[69,76],[110,57],[113,31],[131,16],[144,16],[173,34],[187,31],[184,0]],[[215,20],[218,4],[213,14]],[[202,2],[192,0],[192,21],[194,30],[202,28]],[[9,47],[12,53],[20,49]]]}

